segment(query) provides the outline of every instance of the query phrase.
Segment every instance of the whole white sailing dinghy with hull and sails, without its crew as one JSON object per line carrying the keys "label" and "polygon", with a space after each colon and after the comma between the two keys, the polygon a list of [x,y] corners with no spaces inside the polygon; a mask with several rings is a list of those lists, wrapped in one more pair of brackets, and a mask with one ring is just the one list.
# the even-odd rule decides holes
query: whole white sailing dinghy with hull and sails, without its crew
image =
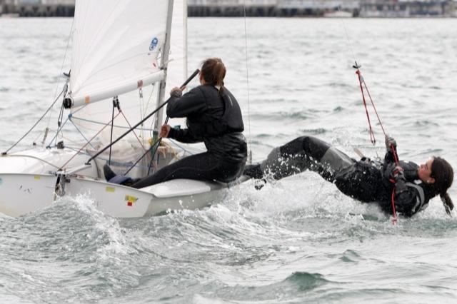
{"label": "whole white sailing dinghy with hull and sails, without its crew", "polygon": [[[0,213],[21,216],[80,194],[121,218],[221,200],[227,183],[176,179],[135,189],[106,182],[102,170],[109,163],[116,173],[142,177],[201,152],[166,138],[159,146],[156,131],[163,121],[164,96],[186,79],[186,18],[182,0],[76,1],[59,128],[54,137],[46,128],[43,142],[49,143],[44,146],[2,153]],[[144,120],[153,99],[156,115]],[[78,144],[61,140],[68,130]],[[111,146],[115,138],[119,141]]]}

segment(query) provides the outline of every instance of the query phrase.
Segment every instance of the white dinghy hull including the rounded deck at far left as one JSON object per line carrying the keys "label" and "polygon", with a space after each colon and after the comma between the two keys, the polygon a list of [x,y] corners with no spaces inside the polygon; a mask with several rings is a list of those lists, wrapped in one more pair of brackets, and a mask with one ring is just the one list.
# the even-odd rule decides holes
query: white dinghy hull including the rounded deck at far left
{"label": "white dinghy hull including the rounded deck at far left", "polygon": [[[166,181],[141,189],[126,187],[104,181],[96,161],[83,166],[88,158],[87,154],[75,154],[66,148],[33,148],[0,156],[0,213],[22,216],[46,208],[60,197],[88,195],[96,208],[109,216],[139,218],[169,210],[209,206],[221,201],[228,187],[226,183],[189,179]],[[57,196],[56,172],[70,159],[65,172],[73,170],[75,174],[67,174],[64,191],[57,188]],[[165,164],[162,161],[162,166]]]}

